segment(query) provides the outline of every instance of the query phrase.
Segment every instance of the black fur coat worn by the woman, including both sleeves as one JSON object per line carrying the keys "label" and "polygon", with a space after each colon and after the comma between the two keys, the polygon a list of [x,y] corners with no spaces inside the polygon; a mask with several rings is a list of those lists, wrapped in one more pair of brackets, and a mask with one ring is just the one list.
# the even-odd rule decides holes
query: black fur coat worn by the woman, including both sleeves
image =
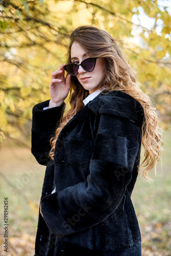
{"label": "black fur coat worn by the woman, including both sleeves", "polygon": [[92,255],[140,256],[131,194],[140,162],[142,106],[121,91],[100,93],[63,127],[52,161],[49,140],[66,103],[42,110],[48,104],[33,108],[32,154],[47,165],[35,256],[70,255],[60,254],[68,244],[71,255],[84,248]]}

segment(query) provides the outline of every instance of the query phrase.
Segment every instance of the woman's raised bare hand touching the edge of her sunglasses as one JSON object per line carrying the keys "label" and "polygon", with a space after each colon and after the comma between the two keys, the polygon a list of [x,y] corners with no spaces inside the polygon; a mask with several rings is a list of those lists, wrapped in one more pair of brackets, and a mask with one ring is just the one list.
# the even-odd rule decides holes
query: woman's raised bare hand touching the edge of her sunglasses
{"label": "woman's raised bare hand touching the edge of her sunglasses", "polygon": [[49,102],[49,108],[61,105],[68,96],[71,75],[68,75],[67,78],[65,78],[64,65],[62,64],[60,68],[54,71],[51,75],[51,82],[49,84],[51,100]]}

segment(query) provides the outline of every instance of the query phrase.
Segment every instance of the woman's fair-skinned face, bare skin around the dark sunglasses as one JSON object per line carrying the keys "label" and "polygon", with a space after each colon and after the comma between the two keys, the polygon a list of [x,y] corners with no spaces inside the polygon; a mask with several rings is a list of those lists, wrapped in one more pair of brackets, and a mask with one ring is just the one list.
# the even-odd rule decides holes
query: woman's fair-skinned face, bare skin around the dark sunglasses
{"label": "woman's fair-skinned face, bare skin around the dark sunglasses", "polygon": [[[72,63],[80,64],[82,60],[87,58],[89,58],[89,56],[81,48],[81,46],[77,42],[73,42],[71,47]],[[104,62],[104,58],[97,58],[96,66],[92,72],[87,72],[81,66],[79,66],[77,79],[84,89],[89,90],[90,94],[98,89],[98,86],[103,79]]]}

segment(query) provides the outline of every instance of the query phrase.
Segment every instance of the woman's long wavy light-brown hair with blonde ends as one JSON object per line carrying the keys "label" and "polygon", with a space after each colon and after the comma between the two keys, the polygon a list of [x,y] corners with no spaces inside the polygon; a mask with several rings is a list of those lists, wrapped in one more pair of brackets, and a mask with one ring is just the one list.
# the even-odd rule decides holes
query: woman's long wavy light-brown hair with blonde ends
{"label": "woman's long wavy light-brown hair with blonde ends", "polygon": [[[71,63],[71,47],[73,42],[77,42],[89,57],[101,57],[105,59],[105,75],[99,84],[99,89],[103,87],[107,93],[113,90],[122,91],[135,98],[142,105],[144,110],[144,121],[142,125],[144,160],[138,166],[138,170],[141,178],[148,182],[153,181],[148,177],[148,173],[155,167],[156,174],[156,164],[161,161],[163,145],[161,129],[158,125],[158,116],[151,98],[138,86],[137,74],[129,65],[129,60],[126,60],[127,56],[123,52],[119,40],[96,27],[78,27],[70,36],[67,64]],[[52,145],[50,151],[51,159],[54,159],[55,143],[59,132],[71,117],[83,108],[83,100],[88,95],[89,91],[81,86],[77,77],[71,76],[69,97],[71,108],[60,118],[55,137],[50,140]]]}

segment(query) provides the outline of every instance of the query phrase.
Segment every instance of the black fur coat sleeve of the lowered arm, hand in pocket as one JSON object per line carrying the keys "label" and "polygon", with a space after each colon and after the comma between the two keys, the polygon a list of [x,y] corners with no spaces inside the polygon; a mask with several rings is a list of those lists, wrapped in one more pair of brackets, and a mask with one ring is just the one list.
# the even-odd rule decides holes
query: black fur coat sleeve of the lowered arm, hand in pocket
{"label": "black fur coat sleeve of the lowered arm, hand in pocket", "polygon": [[[99,111],[87,180],[66,187],[41,200],[49,229],[57,236],[83,231],[109,217],[125,197],[140,150],[140,127],[117,111],[104,106]],[[123,115],[122,115],[123,114]],[[75,218],[74,224],[71,220]],[[53,220],[53,221],[52,221]]]}

